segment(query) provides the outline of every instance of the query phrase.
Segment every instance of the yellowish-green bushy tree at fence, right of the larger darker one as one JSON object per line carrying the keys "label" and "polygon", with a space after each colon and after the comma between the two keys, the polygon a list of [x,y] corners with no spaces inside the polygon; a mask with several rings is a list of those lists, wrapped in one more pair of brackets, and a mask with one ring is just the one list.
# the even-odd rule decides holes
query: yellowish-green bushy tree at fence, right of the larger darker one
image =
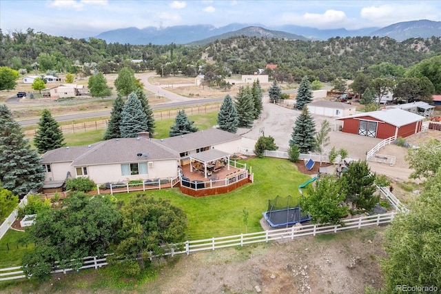
{"label": "yellowish-green bushy tree at fence, right of the larger darker one", "polygon": [[149,257],[165,252],[172,244],[183,242],[187,217],[181,208],[168,199],[136,195],[123,206],[123,225],[119,233],[116,254],[126,273],[138,275]]}

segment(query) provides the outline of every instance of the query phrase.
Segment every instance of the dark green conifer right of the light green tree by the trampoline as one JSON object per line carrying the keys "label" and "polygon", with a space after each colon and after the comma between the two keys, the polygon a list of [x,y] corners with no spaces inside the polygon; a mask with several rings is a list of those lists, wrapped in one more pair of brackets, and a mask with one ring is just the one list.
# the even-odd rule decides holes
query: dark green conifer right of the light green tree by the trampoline
{"label": "dark green conifer right of the light green tree by the trampoline", "polygon": [[376,175],[371,173],[367,161],[353,161],[342,176],[346,181],[346,202],[351,202],[356,208],[371,211],[380,197],[376,191]]}

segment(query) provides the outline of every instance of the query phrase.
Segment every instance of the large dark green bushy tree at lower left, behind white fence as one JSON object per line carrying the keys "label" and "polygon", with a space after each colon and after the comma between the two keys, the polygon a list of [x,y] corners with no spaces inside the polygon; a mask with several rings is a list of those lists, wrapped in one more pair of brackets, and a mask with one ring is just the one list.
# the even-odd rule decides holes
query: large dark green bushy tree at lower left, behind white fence
{"label": "large dark green bushy tree at lower left, behind white fence", "polygon": [[44,279],[54,262],[60,268],[78,269],[83,257],[108,253],[121,224],[121,213],[110,195],[70,193],[62,208],[40,211],[26,229],[26,241],[35,244],[22,261],[28,275]]}

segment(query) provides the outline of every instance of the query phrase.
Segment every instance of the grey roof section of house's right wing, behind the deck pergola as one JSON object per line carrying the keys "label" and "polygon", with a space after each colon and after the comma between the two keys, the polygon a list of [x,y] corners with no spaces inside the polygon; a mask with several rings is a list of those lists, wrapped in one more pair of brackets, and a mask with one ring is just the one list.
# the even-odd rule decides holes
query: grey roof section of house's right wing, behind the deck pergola
{"label": "grey roof section of house's right wing, behind the deck pergola", "polygon": [[207,130],[201,130],[196,133],[157,140],[157,143],[169,148],[170,150],[183,153],[189,150],[195,150],[197,148],[203,148],[238,139],[241,139],[239,135],[228,133],[225,132],[225,130],[219,130],[217,128],[208,128]]}

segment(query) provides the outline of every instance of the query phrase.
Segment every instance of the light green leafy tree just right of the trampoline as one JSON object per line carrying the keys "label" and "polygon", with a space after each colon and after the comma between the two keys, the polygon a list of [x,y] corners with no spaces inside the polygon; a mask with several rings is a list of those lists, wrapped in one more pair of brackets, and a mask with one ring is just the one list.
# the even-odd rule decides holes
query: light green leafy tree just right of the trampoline
{"label": "light green leafy tree just right of the trampoline", "polygon": [[311,215],[314,224],[340,224],[348,214],[345,204],[346,190],[342,179],[320,177],[314,188],[308,188],[300,205]]}

